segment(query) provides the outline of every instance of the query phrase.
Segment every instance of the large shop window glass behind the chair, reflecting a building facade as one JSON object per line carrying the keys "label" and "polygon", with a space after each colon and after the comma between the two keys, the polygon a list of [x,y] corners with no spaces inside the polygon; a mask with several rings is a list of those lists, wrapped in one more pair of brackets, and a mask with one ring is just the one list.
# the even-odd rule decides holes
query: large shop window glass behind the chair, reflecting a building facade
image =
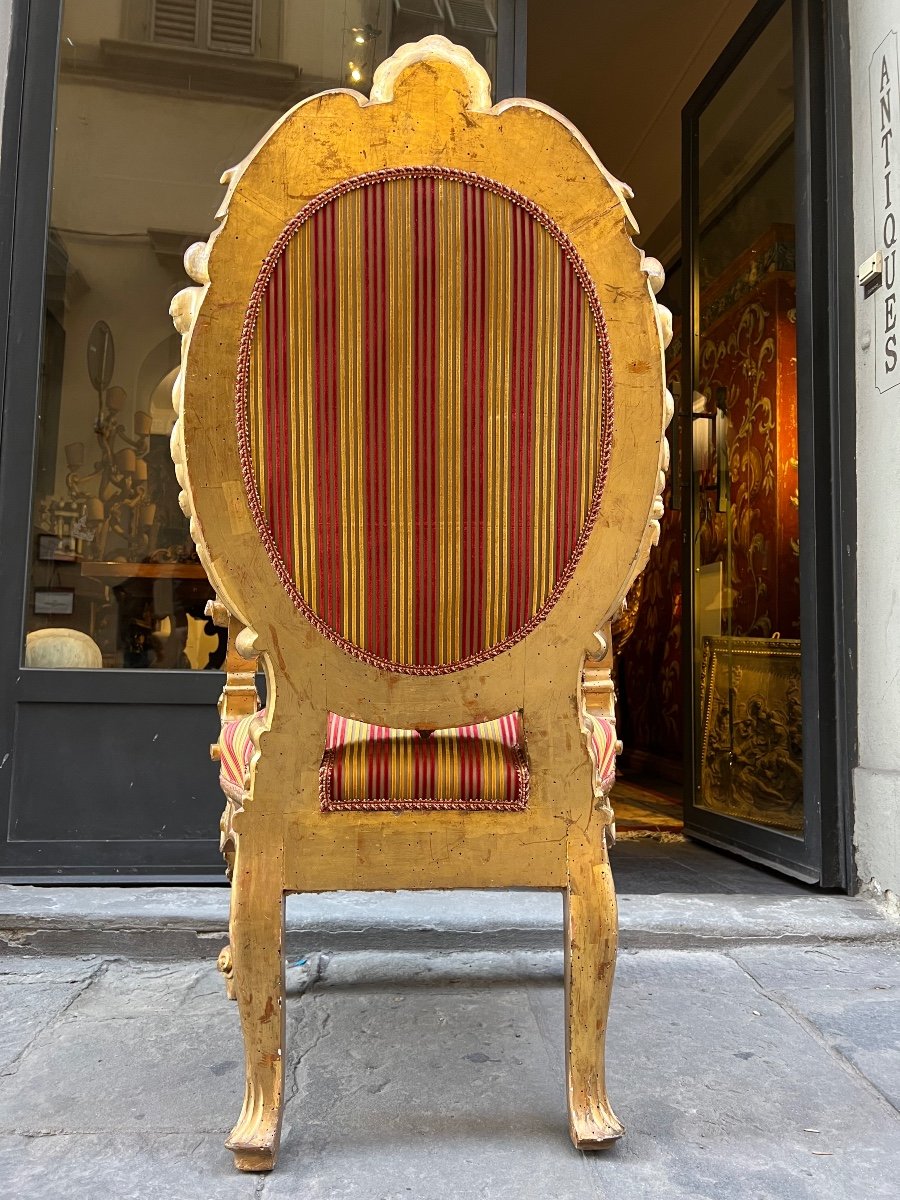
{"label": "large shop window glass behind the chair, reflecting a building facade", "polygon": [[[438,32],[493,71],[496,0],[66,0],[25,664],[194,668],[224,646],[168,452],[168,317],[222,172],[292,104]],[[66,632],[70,631],[70,632]],[[80,635],[80,636],[79,636]]]}

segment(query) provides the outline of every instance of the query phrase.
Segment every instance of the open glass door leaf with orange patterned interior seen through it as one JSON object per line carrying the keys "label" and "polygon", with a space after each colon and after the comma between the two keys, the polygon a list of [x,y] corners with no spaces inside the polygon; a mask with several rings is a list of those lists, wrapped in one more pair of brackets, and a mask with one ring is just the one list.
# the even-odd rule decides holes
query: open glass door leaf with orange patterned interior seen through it
{"label": "open glass door leaf with orange patterned interior seen through it", "polygon": [[751,13],[685,108],[684,139],[685,830],[816,880],[790,2]]}

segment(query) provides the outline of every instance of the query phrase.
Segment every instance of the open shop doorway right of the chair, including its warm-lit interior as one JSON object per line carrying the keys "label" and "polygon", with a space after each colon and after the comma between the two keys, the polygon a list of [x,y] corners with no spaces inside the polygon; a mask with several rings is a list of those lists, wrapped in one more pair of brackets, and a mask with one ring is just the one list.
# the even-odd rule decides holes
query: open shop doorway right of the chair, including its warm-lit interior
{"label": "open shop doorway right of the chair, including its warm-lit interior", "polygon": [[613,626],[617,826],[840,883],[844,800],[822,775],[827,673],[806,637],[821,620],[816,523],[828,520],[816,510],[828,397],[814,404],[804,127],[822,13],[790,0],[732,0],[712,17],[702,2],[611,6],[592,36],[594,6],[563,8],[569,19],[530,10],[529,94],[569,113],[634,187],[636,241],[664,264],[674,314],[666,515]]}

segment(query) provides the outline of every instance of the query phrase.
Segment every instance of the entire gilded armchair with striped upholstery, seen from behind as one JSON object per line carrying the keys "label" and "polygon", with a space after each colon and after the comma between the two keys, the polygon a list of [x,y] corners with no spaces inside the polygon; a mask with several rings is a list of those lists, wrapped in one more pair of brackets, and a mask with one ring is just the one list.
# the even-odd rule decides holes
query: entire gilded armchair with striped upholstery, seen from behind
{"label": "entire gilded armchair with striped upholstery, seen from behind", "polygon": [[286,893],[509,887],[564,893],[570,1129],[602,1146],[607,623],[658,536],[671,416],[624,188],[440,37],[370,100],[298,104],[223,181],[173,302],[172,449],[230,631],[228,1146],[275,1163]]}

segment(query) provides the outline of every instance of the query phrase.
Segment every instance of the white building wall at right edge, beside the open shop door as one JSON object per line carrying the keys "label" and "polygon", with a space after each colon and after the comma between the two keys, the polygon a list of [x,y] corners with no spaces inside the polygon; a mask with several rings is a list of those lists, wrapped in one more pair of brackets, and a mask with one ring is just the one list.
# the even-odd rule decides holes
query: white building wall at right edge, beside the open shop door
{"label": "white building wall at right edge, beside the open shop door", "polygon": [[[877,250],[890,253],[893,215],[894,248],[900,251],[900,80],[895,78],[896,41],[889,38],[893,28],[900,40],[900,7],[896,0],[851,0],[848,8],[853,217],[856,259],[863,263]],[[880,86],[886,52],[887,89]],[[876,78],[870,85],[874,59]],[[889,90],[889,118],[882,115],[876,89],[882,95]],[[886,134],[882,126],[890,132]],[[886,286],[895,274],[893,260],[886,265],[888,272],[872,295],[864,296],[857,287],[859,766],[854,844],[860,886],[900,896],[900,359],[892,367],[893,353],[900,353],[900,287],[896,278],[893,287]],[[846,286],[856,283],[848,280]],[[896,320],[895,342],[889,341],[892,320]]]}

